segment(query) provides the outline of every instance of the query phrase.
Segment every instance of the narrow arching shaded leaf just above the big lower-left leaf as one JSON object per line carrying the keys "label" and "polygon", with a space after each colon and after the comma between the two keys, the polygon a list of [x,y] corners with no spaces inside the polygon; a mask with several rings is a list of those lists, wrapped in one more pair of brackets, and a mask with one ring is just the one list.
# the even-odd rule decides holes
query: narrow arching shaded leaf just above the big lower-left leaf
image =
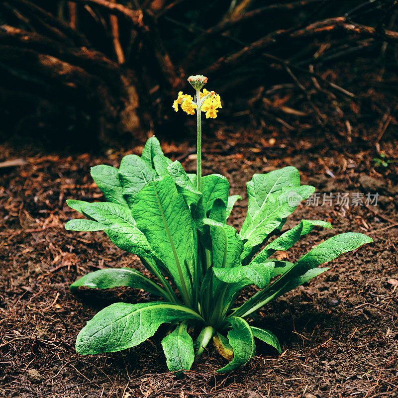
{"label": "narrow arching shaded leaf just above the big lower-left leaf", "polygon": [[111,289],[117,286],[128,286],[134,289],[143,289],[155,296],[166,296],[165,291],[159,285],[132,268],[107,268],[90,272],[75,281],[69,289],[72,294],[76,294],[80,286],[87,286],[93,289]]}

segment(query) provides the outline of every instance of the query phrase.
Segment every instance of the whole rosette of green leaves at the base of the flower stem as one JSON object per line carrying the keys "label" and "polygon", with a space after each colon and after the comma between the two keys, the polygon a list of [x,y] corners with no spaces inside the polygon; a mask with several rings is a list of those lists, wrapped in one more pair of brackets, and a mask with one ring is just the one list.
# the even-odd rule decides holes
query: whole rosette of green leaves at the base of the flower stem
{"label": "whole rosette of green leaves at the base of the flower stem", "polygon": [[[210,341],[229,360],[218,372],[250,360],[256,339],[281,352],[277,337],[252,326],[247,317],[327,270],[319,268],[321,264],[372,241],[361,233],[342,233],[294,264],[272,259],[314,227],[331,228],[325,221],[302,220],[280,234],[298,203],[314,192],[313,187],[300,185],[294,167],[255,174],[247,183],[248,209],[240,232],[227,224],[240,199],[228,196],[228,181],[218,174],[204,176],[199,192],[196,175],[165,157],[155,137],[147,141],[141,157],[125,156],[119,169],[95,166],[91,175],[106,202],[68,200],[86,218],[68,221],[65,228],[103,230],[120,249],[139,256],[153,279],[131,268],[101,269],[77,280],[71,292],[77,294],[80,286],[129,286],[144,289],[157,300],[118,302],[100,310],[77,337],[81,354],[134,347],[153,336],[162,323],[174,325],[162,340],[173,372],[189,370]],[[239,291],[249,285],[257,286],[258,292],[234,306]]]}

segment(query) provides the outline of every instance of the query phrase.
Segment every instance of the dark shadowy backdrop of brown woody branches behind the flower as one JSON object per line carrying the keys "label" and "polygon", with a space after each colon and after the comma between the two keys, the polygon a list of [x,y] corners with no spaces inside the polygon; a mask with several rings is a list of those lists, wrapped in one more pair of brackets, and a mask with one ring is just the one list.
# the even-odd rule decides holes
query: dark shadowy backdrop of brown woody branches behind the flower
{"label": "dark shadowy backdrop of brown woody branches behind the flower", "polygon": [[217,126],[372,147],[397,134],[395,0],[193,4],[2,1],[0,137],[85,150],[193,137],[171,103],[197,73],[221,95]]}

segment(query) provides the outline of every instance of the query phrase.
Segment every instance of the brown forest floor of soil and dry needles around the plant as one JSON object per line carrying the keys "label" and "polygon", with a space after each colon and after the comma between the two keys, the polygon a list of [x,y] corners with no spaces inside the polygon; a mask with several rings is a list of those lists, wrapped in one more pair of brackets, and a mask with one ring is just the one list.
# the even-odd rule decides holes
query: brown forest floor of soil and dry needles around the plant
{"label": "brown forest floor of soil and dry needles around the plant", "polygon": [[[192,142],[161,142],[166,155],[195,170]],[[301,203],[283,231],[302,218],[327,220],[334,228],[304,236],[287,252],[289,261],[336,233],[363,232],[374,243],[334,260],[325,274],[251,320],[278,336],[282,355],[258,344],[250,363],[218,375],[225,360],[210,349],[178,379],[167,371],[163,328],[138,347],[82,356],[74,350],[76,336],[100,308],[150,298],[127,288],[94,291],[88,294],[93,306],[70,294],[69,285],[88,272],[142,266],[102,232],[66,231],[65,222],[75,216],[66,199],[102,200],[90,167],[118,166],[123,155],[140,154],[142,143],[129,151],[69,156],[3,146],[0,162],[21,157],[26,164],[0,169],[0,397],[398,396],[397,163],[377,166],[373,149],[329,142],[322,134],[264,138],[220,128],[204,142],[203,174],[223,174],[230,195],[243,197],[230,218],[236,227],[245,217],[245,183],[254,173],[293,165],[302,183],[317,188],[319,202]],[[397,141],[386,139],[380,147],[387,158],[398,159]]]}

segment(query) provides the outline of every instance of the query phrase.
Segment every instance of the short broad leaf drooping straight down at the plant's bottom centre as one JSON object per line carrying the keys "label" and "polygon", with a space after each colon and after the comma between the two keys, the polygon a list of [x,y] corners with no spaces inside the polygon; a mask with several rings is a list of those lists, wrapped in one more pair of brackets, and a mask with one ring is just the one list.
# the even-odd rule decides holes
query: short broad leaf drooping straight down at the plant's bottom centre
{"label": "short broad leaf drooping straight down at the plant's bottom centre", "polygon": [[187,332],[185,323],[180,323],[177,328],[162,340],[163,351],[166,355],[167,367],[170,372],[190,370],[194,363],[194,342]]}

